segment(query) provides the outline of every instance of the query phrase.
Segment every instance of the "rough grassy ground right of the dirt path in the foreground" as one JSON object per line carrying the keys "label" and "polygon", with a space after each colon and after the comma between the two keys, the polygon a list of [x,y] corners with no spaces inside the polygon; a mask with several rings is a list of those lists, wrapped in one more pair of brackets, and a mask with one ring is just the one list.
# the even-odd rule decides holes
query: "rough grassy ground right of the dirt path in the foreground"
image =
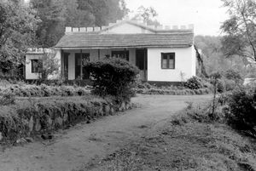
{"label": "rough grassy ground right of the dirt path in the foreground", "polygon": [[79,171],[256,170],[255,142],[224,123],[178,116]]}

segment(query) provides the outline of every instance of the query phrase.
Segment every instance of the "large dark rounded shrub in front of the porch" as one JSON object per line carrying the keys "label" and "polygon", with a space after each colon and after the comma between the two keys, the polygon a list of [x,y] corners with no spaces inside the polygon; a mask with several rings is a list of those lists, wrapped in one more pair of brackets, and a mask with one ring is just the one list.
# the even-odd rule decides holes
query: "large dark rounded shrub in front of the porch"
{"label": "large dark rounded shrub in front of the porch", "polygon": [[134,95],[132,88],[139,71],[128,61],[112,58],[89,62],[85,67],[90,71],[93,94],[112,95],[116,100],[130,100]]}

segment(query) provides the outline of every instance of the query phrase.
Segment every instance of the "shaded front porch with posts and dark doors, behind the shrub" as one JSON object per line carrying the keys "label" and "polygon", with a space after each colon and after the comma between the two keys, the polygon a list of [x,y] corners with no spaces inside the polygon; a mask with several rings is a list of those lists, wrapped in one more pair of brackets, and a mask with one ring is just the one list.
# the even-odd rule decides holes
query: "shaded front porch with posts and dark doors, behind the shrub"
{"label": "shaded front porch with posts and dark doors, behind the shrub", "polygon": [[90,73],[85,70],[84,63],[111,57],[128,60],[139,68],[140,79],[148,80],[147,48],[61,49],[61,75],[65,80],[87,80]]}

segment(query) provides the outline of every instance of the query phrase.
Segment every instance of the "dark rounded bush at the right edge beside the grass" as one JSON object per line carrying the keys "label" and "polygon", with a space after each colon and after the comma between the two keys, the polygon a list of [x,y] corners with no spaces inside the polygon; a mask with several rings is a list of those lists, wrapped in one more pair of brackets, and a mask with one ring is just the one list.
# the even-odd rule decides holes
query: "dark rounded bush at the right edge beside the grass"
{"label": "dark rounded bush at the right edge beside the grass", "polygon": [[230,124],[256,137],[256,89],[237,88],[230,95],[228,106],[226,115]]}

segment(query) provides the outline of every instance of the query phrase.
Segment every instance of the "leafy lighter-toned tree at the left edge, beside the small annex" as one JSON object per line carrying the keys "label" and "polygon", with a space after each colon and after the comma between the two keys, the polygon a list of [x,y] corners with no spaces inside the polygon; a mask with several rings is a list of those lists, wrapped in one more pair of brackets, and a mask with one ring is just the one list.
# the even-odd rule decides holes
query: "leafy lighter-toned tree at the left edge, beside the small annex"
{"label": "leafy lighter-toned tree at the left edge, beside the small annex", "polygon": [[33,46],[39,21],[34,12],[20,1],[0,1],[1,70],[9,71],[24,64],[24,54],[28,47]]}

